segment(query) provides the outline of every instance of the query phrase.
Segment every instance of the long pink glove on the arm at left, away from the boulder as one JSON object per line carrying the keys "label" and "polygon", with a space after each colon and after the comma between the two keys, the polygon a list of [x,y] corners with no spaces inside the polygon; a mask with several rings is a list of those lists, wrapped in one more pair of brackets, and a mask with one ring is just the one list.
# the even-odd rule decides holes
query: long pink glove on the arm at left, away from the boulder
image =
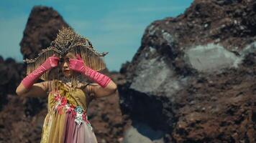
{"label": "long pink glove on the arm at left, away from the boulder", "polygon": [[25,77],[22,80],[22,84],[24,85],[24,87],[26,89],[29,89],[30,87],[32,87],[32,85],[35,82],[37,82],[37,79],[39,79],[39,77],[41,77],[42,74],[45,73],[45,71],[52,69],[55,66],[58,66],[59,60],[60,58],[58,56],[55,56],[55,54],[47,58],[45,62],[42,63],[42,65],[38,66],[37,69],[35,69],[35,71],[27,75],[27,77]]}

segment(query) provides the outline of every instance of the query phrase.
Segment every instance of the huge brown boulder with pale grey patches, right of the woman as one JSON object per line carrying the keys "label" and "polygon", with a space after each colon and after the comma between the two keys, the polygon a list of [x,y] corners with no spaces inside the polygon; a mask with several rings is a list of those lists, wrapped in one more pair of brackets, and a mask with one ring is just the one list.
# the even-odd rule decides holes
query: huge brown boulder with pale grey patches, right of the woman
{"label": "huge brown boulder with pale grey patches, right of the woman", "polygon": [[256,142],[255,8],[196,0],[147,26],[120,69],[122,112],[132,119],[125,142]]}

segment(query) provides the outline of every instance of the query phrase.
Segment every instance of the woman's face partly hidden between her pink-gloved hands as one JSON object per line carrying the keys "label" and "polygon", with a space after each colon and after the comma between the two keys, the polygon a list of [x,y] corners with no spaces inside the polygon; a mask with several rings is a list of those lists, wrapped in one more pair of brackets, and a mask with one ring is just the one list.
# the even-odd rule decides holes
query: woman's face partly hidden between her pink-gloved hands
{"label": "woman's face partly hidden between her pink-gloved hands", "polygon": [[76,59],[76,56],[68,53],[63,59],[60,59],[60,68],[65,77],[70,77],[73,74],[73,70],[69,69],[69,59]]}

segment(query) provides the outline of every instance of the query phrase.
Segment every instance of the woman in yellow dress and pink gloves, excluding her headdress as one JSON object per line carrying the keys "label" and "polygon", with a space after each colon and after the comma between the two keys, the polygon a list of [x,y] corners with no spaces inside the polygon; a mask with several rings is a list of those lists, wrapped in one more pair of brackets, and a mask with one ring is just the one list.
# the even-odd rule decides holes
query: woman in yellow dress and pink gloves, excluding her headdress
{"label": "woman in yellow dress and pink gloves, excluding her headdress", "polygon": [[[42,74],[58,67],[63,78],[35,83]],[[83,84],[78,75],[95,84]],[[47,97],[48,113],[42,127],[41,142],[97,142],[87,118],[92,99],[116,92],[116,84],[106,75],[86,66],[80,54],[68,52],[62,58],[53,54],[25,77],[16,90],[22,97]]]}

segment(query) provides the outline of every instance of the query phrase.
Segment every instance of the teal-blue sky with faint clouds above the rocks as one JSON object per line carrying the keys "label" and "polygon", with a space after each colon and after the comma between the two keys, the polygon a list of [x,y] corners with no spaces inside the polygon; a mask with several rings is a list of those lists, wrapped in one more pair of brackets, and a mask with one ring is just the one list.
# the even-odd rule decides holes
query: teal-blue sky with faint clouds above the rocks
{"label": "teal-blue sky with faint clouds above the rocks", "polygon": [[6,0],[0,2],[0,55],[22,61],[19,42],[33,6],[51,6],[79,34],[91,40],[105,56],[110,71],[131,61],[142,34],[152,21],[178,16],[192,0]]}

